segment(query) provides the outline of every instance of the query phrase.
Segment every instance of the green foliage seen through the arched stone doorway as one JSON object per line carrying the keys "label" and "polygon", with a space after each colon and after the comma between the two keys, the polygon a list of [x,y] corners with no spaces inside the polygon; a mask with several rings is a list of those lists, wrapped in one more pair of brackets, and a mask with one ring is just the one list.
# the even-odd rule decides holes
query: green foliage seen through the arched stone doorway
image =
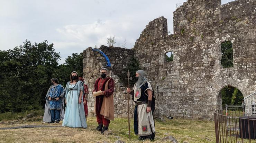
{"label": "green foliage seen through the arched stone doorway", "polygon": [[225,108],[225,104],[240,106],[244,99],[240,90],[233,86],[226,86],[221,90],[222,107]]}

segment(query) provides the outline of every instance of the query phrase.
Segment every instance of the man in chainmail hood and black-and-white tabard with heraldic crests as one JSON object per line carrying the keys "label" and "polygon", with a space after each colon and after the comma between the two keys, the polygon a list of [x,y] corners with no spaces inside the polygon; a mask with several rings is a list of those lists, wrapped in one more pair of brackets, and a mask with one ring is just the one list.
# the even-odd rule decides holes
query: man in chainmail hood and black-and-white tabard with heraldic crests
{"label": "man in chainmail hood and black-and-white tabard with heraldic crests", "polygon": [[139,135],[139,140],[155,138],[155,97],[151,84],[144,77],[144,71],[136,72],[137,82],[133,91],[127,88],[127,92],[132,95],[132,100],[136,103],[134,109],[134,132]]}

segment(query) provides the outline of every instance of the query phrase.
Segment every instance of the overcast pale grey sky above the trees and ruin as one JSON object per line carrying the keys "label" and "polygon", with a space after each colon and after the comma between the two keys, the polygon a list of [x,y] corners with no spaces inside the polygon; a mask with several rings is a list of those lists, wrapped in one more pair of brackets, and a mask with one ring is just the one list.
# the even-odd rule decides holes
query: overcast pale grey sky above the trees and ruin
{"label": "overcast pale grey sky above the trees and ruin", "polygon": [[[176,3],[186,0],[0,0],[0,50],[13,49],[28,39],[54,43],[61,60],[88,47],[132,48],[149,21],[164,16],[173,33]],[[233,0],[222,0],[222,4]]]}

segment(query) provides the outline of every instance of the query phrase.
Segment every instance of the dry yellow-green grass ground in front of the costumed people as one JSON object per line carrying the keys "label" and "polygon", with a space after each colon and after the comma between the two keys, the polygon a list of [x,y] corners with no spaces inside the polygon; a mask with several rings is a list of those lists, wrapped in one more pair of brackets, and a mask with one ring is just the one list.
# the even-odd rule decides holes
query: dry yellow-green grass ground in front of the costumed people
{"label": "dry yellow-green grass ground in front of the costumed people", "polygon": [[[26,113],[24,113],[26,114]],[[6,119],[7,119],[6,115]],[[21,116],[21,115],[20,115]],[[15,116],[16,117],[16,116]],[[0,114],[1,118],[1,114]],[[2,117],[2,121],[4,118]],[[61,125],[60,123],[48,124],[38,121],[36,117],[31,121],[16,122],[14,124],[0,123],[1,127],[22,126],[22,125]],[[139,141],[138,136],[134,134],[133,120],[131,119],[131,139],[128,137],[128,120],[124,118],[116,118],[110,122],[110,135],[101,135],[100,132],[94,129],[97,126],[96,118],[90,117],[87,121],[88,128],[22,128],[11,130],[0,130],[0,143],[10,142],[42,142],[42,143],[113,143],[116,140],[122,140],[126,143],[150,141]],[[166,121],[156,120],[156,136],[151,142],[163,143],[165,136],[173,136],[179,143],[214,143],[215,132],[213,121],[198,121],[189,119],[166,119]],[[169,141],[170,142],[170,141]]]}

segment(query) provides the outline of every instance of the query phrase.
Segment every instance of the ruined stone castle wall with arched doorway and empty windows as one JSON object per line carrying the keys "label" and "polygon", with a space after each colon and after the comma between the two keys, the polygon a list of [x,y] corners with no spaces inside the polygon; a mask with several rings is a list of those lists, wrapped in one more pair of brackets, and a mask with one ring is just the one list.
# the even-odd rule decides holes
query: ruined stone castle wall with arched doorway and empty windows
{"label": "ruined stone castle wall with arched doorway and empty windows", "polygon": [[[115,115],[127,116],[127,75],[132,57],[146,73],[156,96],[156,115],[213,119],[221,109],[220,90],[231,85],[244,97],[256,91],[256,0],[188,0],[173,12],[174,34],[167,34],[167,19],[159,17],[146,26],[134,48],[101,46],[115,79]],[[232,42],[233,67],[221,65],[221,43]],[[173,53],[167,62],[166,53]],[[91,47],[83,51],[83,76],[92,91],[106,59]],[[94,98],[89,94],[89,115]],[[134,103],[130,102],[131,111]],[[132,115],[132,112],[131,112]],[[131,116],[132,117],[132,116]]]}

